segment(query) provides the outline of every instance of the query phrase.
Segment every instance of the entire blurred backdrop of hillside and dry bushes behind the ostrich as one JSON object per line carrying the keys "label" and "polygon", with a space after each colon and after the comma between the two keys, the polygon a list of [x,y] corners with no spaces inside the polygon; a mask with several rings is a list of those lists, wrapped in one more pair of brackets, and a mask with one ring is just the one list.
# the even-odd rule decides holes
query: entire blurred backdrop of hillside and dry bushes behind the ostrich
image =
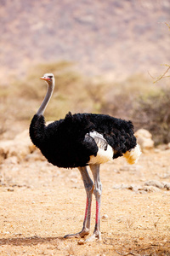
{"label": "entire blurred backdrop of hillside and dry bushes behind the ostrich", "polygon": [[[0,139],[29,127],[54,73],[47,120],[109,113],[170,142],[170,0],[0,0]],[[167,73],[168,75],[169,73]]]}

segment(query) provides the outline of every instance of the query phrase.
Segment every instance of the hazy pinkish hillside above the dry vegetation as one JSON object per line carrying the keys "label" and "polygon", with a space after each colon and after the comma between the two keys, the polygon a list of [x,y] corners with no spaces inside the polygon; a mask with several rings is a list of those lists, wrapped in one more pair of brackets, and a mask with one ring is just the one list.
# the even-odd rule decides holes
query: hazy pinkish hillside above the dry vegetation
{"label": "hazy pinkish hillside above the dry vegetation", "polygon": [[88,75],[120,79],[159,74],[170,61],[169,0],[0,2],[1,77],[67,60]]}

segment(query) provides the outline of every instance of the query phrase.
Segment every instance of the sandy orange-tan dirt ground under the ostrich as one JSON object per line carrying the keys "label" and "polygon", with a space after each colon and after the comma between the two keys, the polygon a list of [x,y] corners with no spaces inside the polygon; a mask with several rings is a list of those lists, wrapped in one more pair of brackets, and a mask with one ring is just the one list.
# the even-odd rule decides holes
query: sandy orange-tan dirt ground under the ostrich
{"label": "sandy orange-tan dirt ground under the ostrich", "polygon": [[[123,158],[101,166],[102,241],[88,243],[63,238],[82,229],[86,194],[78,170],[35,155],[0,167],[0,255],[170,255],[170,191],[144,186],[170,182],[170,150],[142,154],[135,166]],[[94,215],[95,201],[92,234]]]}

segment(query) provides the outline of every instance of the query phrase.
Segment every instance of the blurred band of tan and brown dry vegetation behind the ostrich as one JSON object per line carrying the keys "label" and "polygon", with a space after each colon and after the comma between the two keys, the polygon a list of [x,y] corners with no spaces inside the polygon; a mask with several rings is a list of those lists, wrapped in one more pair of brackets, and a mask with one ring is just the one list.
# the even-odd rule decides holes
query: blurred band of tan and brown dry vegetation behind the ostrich
{"label": "blurred band of tan and brown dry vegetation behind the ostrich", "polygon": [[135,130],[149,130],[156,144],[170,141],[168,80],[152,84],[149,76],[135,74],[119,82],[108,82],[100,77],[85,77],[67,61],[37,65],[26,78],[0,86],[2,139],[12,138],[28,127],[46,93],[46,84],[39,77],[47,71],[54,73],[56,79],[54,95],[45,113],[47,120],[63,118],[68,111],[109,113],[132,119]]}

